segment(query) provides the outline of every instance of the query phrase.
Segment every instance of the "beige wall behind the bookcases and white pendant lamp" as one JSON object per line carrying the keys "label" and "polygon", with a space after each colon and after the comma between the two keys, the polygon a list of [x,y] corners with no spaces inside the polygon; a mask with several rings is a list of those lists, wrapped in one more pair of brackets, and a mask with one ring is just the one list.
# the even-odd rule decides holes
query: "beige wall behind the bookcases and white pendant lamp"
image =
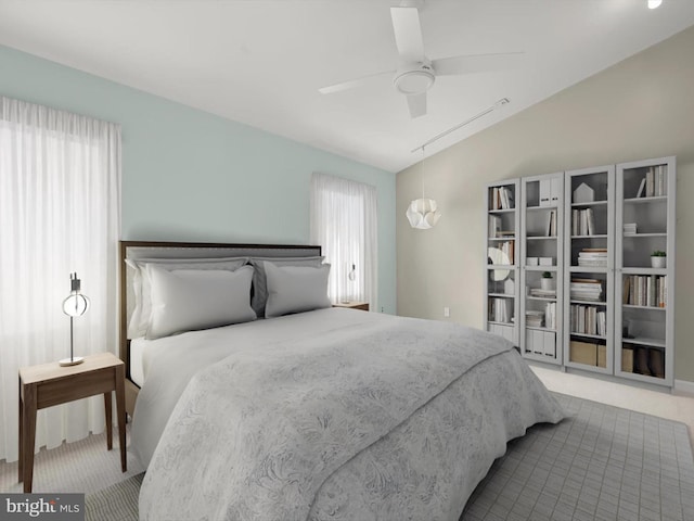
{"label": "beige wall behind the bookcases and white pendant lamp", "polygon": [[444,216],[413,230],[421,165],[397,176],[398,314],[481,327],[488,181],[677,155],[676,378],[694,381],[694,28],[426,158]]}

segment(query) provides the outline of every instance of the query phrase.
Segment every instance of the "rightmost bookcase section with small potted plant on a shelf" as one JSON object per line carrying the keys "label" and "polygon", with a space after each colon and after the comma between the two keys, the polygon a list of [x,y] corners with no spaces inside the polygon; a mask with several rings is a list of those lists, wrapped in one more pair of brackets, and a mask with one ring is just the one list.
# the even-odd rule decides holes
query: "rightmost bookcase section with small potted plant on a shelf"
{"label": "rightmost bookcase section with small potted plant on a shelf", "polygon": [[[617,165],[615,373],[674,381],[676,158]],[[652,252],[666,253],[652,267]]]}

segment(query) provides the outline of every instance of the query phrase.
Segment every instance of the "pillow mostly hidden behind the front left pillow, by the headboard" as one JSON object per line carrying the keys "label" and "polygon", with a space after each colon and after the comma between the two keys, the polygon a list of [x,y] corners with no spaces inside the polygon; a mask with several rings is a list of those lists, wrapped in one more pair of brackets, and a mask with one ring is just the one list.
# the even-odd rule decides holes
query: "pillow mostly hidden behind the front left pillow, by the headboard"
{"label": "pillow mostly hidden behind the front left pillow, by the headboard", "polygon": [[144,336],[150,327],[152,315],[152,296],[149,264],[167,269],[228,269],[234,270],[248,262],[248,257],[209,257],[209,258],[139,258],[126,259],[134,272],[132,275],[132,291],[134,293],[134,308],[128,322],[128,338]]}

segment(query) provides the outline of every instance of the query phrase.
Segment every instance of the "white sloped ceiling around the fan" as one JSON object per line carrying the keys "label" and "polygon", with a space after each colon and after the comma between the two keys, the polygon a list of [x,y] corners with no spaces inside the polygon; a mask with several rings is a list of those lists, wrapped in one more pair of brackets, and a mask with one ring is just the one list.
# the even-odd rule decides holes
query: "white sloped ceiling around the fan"
{"label": "white sloped ceiling around the fan", "polygon": [[[523,51],[513,71],[437,78],[410,119],[389,77],[391,0],[0,0],[0,45],[399,171],[694,24],[694,0],[427,0],[429,59]],[[2,74],[0,72],[0,74]]]}

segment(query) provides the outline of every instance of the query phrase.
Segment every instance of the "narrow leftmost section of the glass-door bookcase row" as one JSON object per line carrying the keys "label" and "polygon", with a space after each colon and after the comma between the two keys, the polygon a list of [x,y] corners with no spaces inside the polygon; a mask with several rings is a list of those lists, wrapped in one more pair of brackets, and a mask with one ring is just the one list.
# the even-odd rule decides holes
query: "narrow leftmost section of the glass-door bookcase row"
{"label": "narrow leftmost section of the glass-door bookcase row", "polygon": [[507,179],[487,186],[485,247],[487,269],[484,329],[518,345],[519,181]]}

